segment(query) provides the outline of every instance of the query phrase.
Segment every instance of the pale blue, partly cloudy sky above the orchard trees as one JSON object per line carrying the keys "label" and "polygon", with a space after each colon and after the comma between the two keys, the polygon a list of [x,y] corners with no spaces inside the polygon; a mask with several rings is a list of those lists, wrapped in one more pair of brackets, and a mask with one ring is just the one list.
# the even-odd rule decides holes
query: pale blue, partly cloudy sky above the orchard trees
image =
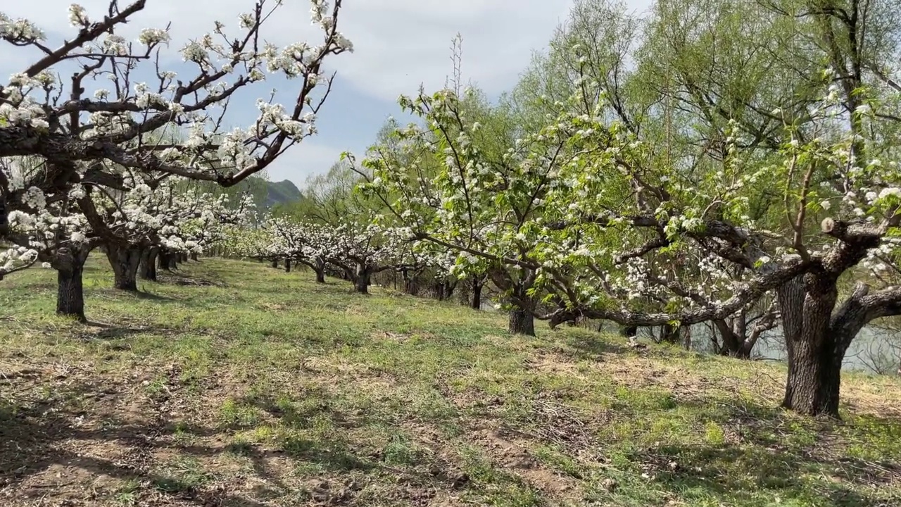
{"label": "pale blue, partly cloudy sky above the orchard trees", "polygon": [[[650,0],[627,0],[629,8],[643,10]],[[109,0],[80,0],[89,18],[101,18]],[[119,0],[120,7],[132,0]],[[273,4],[268,0],[268,4]],[[71,39],[76,29],[68,24],[67,0],[0,0],[0,12],[24,17],[47,33],[51,47]],[[166,69],[189,68],[177,49],[190,39],[211,32],[214,21],[225,23],[226,33],[238,33],[238,15],[250,12],[253,0],[147,0],[132,22],[117,32],[136,40],[141,28],[163,28],[168,23],[172,41],[163,51]],[[400,95],[414,95],[422,84],[427,92],[444,87],[453,73],[451,41],[462,37],[461,75],[497,97],[514,87],[520,73],[542,51],[569,13],[572,0],[344,0],[339,31],[354,44],[354,51],[326,60],[337,72],[332,93],[317,118],[318,134],[289,149],[268,167],[270,180],[292,180],[300,188],[312,174],[328,171],[341,152],[362,156],[389,115],[400,117]],[[321,41],[311,25],[306,0],[284,0],[264,28],[263,37],[278,46],[296,41]],[[24,69],[35,54],[4,48],[0,82]],[[69,72],[62,69],[63,76]],[[297,82],[268,79],[235,97],[227,121],[247,126],[257,115],[257,97],[272,88],[279,97],[296,95]],[[89,90],[90,91],[90,90]],[[285,94],[285,95],[281,95]]]}

